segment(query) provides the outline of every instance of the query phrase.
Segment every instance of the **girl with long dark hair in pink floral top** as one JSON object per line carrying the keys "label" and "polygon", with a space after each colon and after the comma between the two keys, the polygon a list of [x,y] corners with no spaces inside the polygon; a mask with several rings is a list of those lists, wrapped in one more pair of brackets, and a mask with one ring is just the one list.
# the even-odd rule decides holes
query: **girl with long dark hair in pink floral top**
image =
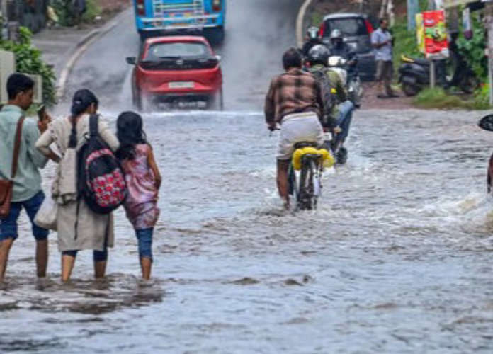
{"label": "girl with long dark hair in pink floral top", "polygon": [[117,151],[125,172],[128,198],[125,212],[132,223],[139,242],[142,278],[148,280],[152,267],[152,234],[159,217],[157,198],[161,174],[157,168],[152,147],[147,143],[142,129],[142,118],[137,113],[124,112],[117,120]]}

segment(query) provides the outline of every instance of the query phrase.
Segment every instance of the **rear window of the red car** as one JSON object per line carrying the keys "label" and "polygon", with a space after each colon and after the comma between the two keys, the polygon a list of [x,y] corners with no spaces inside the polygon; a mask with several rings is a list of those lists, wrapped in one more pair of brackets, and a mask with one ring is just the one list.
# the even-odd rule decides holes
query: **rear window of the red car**
{"label": "rear window of the red car", "polygon": [[210,54],[209,48],[200,42],[157,43],[149,47],[144,60],[154,62],[166,58],[200,58]]}

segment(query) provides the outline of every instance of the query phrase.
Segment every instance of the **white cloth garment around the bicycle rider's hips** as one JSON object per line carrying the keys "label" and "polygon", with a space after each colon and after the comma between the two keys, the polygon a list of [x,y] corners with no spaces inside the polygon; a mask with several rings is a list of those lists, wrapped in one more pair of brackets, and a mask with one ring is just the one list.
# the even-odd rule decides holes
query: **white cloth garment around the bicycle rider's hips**
{"label": "white cloth garment around the bicycle rider's hips", "polygon": [[283,118],[276,158],[291,159],[297,142],[316,142],[318,146],[324,143],[324,130],[316,113],[293,113]]}

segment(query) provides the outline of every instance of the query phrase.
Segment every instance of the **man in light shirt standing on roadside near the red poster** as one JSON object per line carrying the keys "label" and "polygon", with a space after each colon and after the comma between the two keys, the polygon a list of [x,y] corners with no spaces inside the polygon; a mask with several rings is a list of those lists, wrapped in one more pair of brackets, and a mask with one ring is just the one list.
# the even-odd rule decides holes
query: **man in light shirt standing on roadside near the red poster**
{"label": "man in light shirt standing on roadside near the red poster", "polygon": [[[390,86],[392,84],[394,66],[392,64],[393,38],[388,27],[388,20],[381,18],[380,28],[371,34],[371,44],[375,48],[375,60],[377,61],[376,79],[378,81],[378,98],[398,97],[392,91],[392,86]],[[383,94],[382,86],[385,86],[386,96]]]}

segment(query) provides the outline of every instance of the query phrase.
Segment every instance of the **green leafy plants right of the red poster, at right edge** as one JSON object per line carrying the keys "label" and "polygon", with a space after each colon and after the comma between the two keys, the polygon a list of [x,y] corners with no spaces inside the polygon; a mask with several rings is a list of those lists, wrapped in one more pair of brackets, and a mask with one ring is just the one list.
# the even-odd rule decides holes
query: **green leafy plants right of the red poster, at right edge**
{"label": "green leafy plants right of the red poster, at right edge", "polygon": [[457,40],[457,47],[476,76],[481,81],[486,81],[488,76],[488,59],[485,55],[486,36],[485,28],[479,21],[473,21],[472,39],[466,40],[461,34]]}

